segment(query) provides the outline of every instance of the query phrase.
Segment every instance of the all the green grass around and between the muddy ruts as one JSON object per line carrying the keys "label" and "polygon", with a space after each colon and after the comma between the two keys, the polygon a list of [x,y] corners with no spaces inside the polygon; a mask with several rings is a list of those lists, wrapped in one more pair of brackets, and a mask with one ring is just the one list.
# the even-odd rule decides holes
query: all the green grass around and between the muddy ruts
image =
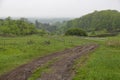
{"label": "all the green grass around and between the muddy ruts", "polygon": [[[76,61],[73,80],[119,80],[120,36],[80,38],[71,36],[0,37],[0,75],[35,58],[77,45],[95,42],[99,48]],[[53,61],[38,68],[29,80],[39,77]],[[85,63],[83,63],[85,62]]]}

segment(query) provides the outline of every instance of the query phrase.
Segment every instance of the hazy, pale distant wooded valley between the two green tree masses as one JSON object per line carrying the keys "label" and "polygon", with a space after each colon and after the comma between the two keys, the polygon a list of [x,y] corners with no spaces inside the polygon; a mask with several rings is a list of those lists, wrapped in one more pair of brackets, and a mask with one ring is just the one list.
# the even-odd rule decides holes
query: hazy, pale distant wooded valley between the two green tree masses
{"label": "hazy, pale distant wooded valley between the two green tree masses", "polygon": [[30,22],[35,23],[38,29],[43,29],[48,32],[56,32],[64,22],[70,18],[28,18]]}

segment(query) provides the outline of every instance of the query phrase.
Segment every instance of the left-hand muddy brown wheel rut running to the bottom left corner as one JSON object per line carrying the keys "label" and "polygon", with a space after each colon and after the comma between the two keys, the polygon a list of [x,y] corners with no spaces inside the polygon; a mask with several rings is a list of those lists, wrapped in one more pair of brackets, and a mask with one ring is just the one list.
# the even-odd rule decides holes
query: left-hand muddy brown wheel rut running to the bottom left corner
{"label": "left-hand muddy brown wheel rut running to the bottom left corner", "polygon": [[[81,46],[78,46],[81,47]],[[76,47],[76,48],[78,48]],[[76,49],[74,48],[74,49]],[[21,65],[18,68],[0,76],[0,80],[27,80],[29,76],[34,72],[34,70],[38,67],[43,66],[49,60],[52,60],[55,57],[65,55],[70,53],[72,49],[66,49],[61,52],[52,53],[50,55],[40,57],[36,60],[33,60],[27,64]]]}

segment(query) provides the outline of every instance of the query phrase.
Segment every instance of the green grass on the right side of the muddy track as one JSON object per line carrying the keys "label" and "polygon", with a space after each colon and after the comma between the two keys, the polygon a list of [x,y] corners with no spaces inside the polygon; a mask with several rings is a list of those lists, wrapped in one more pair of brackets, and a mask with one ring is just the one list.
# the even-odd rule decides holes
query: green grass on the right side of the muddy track
{"label": "green grass on the right side of the muddy track", "polygon": [[120,80],[120,36],[94,41],[99,48],[76,61],[73,80]]}

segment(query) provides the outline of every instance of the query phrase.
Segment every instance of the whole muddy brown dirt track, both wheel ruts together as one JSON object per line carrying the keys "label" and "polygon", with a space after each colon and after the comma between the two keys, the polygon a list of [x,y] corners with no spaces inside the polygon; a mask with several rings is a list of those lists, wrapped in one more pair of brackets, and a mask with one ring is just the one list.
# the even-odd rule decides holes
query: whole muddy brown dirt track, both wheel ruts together
{"label": "whole muddy brown dirt track, both wheel ruts together", "polygon": [[71,80],[72,65],[74,61],[81,55],[86,54],[96,48],[96,44],[89,44],[40,57],[4,75],[1,75],[0,80],[27,80],[36,68],[41,67],[56,57],[61,57],[61,59],[50,66],[52,71],[49,73],[43,73],[41,78],[38,80]]}

